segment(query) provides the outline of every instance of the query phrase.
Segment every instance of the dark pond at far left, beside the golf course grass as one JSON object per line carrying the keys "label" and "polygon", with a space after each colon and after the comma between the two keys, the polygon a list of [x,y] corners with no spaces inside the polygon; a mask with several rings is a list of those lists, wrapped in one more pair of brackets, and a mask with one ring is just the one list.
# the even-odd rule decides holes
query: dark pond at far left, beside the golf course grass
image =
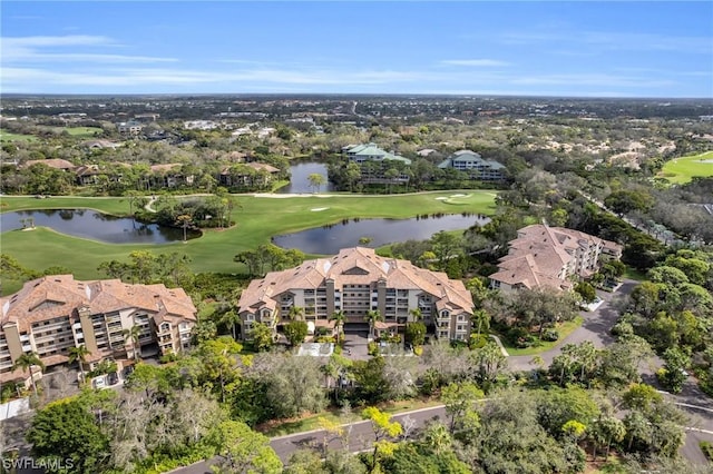
{"label": "dark pond at far left, beside the golf course grass", "polygon": [[[26,219],[25,224],[22,219]],[[0,229],[17,230],[35,226],[49,227],[60,234],[107,244],[169,244],[183,240],[183,229],[157,224],[141,224],[127,217],[109,216],[91,209],[19,210],[0,214]],[[188,230],[188,239],[201,233]]]}

